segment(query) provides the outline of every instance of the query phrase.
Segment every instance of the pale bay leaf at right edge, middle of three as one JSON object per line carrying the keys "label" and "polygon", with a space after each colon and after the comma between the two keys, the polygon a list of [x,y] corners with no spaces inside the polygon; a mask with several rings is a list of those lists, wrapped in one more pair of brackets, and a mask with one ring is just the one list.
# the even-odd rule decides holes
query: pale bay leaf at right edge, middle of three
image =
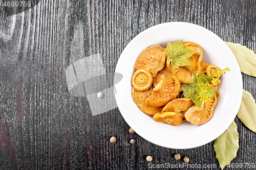
{"label": "pale bay leaf at right edge, middle of three", "polygon": [[249,91],[243,90],[238,118],[247,128],[256,133],[256,104]]}

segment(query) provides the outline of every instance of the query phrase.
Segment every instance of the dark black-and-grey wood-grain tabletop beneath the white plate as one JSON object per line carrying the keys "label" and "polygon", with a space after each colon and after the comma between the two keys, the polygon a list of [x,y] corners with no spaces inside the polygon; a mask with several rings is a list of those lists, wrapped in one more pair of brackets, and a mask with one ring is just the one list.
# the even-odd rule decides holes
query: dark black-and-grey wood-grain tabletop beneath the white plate
{"label": "dark black-and-grey wood-grain tabletop beneath the white plate", "polygon": [[[255,52],[255,0],[42,0],[9,17],[2,5],[0,169],[147,169],[147,155],[153,164],[182,164],[174,159],[176,153],[189,157],[189,164],[218,166],[213,141],[194,149],[167,149],[130,134],[118,108],[92,116],[90,107],[97,106],[90,106],[86,96],[69,94],[65,70],[99,53],[111,74],[136,35],[171,21],[195,23]],[[256,79],[242,76],[244,89],[256,99]],[[111,86],[110,80],[100,83]],[[256,163],[256,134],[237,117],[235,122],[240,149],[231,163]],[[116,143],[110,143],[112,136]]]}

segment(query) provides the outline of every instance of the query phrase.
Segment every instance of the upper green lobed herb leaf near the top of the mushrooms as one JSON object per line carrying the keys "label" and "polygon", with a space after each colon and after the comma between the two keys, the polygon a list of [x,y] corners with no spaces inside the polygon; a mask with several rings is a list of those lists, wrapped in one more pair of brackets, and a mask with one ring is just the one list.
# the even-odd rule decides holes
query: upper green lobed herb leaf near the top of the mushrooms
{"label": "upper green lobed herb leaf near the top of the mushrooms", "polygon": [[170,58],[170,62],[173,68],[179,68],[179,66],[190,65],[188,60],[196,52],[190,51],[188,48],[184,48],[183,40],[178,42],[167,43],[166,54]]}

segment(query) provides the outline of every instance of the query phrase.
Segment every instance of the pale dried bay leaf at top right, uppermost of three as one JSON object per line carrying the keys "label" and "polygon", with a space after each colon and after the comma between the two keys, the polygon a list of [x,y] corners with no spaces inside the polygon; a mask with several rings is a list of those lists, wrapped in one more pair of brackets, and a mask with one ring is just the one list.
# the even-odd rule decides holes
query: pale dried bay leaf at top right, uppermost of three
{"label": "pale dried bay leaf at top right, uppermost of three", "polygon": [[249,76],[256,77],[256,54],[244,45],[226,42],[234,56],[236,56],[241,71]]}

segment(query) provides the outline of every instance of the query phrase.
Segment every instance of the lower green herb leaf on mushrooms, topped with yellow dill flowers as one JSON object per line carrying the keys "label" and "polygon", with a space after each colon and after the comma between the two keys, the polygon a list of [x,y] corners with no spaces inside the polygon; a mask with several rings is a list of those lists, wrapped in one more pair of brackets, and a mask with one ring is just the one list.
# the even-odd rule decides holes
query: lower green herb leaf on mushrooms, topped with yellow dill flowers
{"label": "lower green herb leaf on mushrooms, topped with yellow dill flowers", "polygon": [[194,74],[193,82],[182,85],[183,95],[185,98],[190,98],[198,107],[201,107],[203,102],[207,102],[206,99],[216,95],[214,89],[207,85],[212,79],[212,77],[205,74]]}

